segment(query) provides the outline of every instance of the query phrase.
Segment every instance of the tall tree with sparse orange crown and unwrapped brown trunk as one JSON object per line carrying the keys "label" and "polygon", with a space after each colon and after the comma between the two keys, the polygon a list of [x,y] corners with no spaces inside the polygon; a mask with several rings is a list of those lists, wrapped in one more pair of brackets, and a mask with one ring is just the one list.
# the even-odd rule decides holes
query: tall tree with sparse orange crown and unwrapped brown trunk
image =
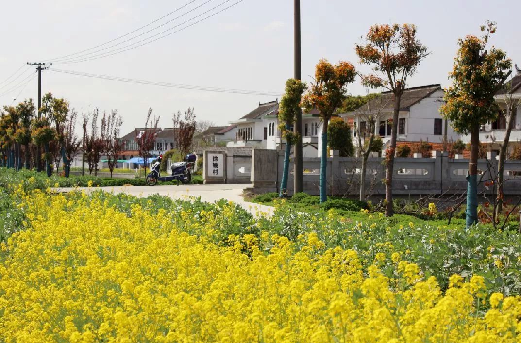
{"label": "tall tree with sparse orange crown and unwrapped brown trunk", "polygon": [[362,75],[365,86],[384,87],[394,94],[394,111],[391,125],[391,145],[386,151],[386,216],[393,215],[392,176],[394,151],[398,133],[400,101],[407,78],[416,72],[419,63],[427,57],[427,47],[416,38],[412,24],[374,25],[366,35],[367,43],[356,46],[362,63],[373,67],[373,73]]}

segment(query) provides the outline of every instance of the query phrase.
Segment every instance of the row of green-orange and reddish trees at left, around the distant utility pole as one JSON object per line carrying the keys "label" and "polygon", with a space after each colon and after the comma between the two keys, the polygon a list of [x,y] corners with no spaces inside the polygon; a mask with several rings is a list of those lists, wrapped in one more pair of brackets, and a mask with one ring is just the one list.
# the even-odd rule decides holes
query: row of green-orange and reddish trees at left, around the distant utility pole
{"label": "row of green-orange and reddish trees at left, around the distant utility pole", "polygon": [[[69,177],[70,166],[83,147],[83,159],[89,172],[97,173],[102,155],[107,156],[112,172],[122,150],[119,142],[121,116],[114,110],[103,113],[98,126],[98,111],[83,115],[83,138],[76,134],[78,113],[70,108],[67,100],[52,93],[42,97],[42,106],[36,109],[32,99],[17,106],[5,106],[0,113],[0,163],[3,167],[45,171],[52,175],[53,165],[63,163],[64,175]],[[88,125],[91,122],[91,130]],[[24,161],[24,162],[23,162]],[[83,171],[84,173],[84,171]]]}

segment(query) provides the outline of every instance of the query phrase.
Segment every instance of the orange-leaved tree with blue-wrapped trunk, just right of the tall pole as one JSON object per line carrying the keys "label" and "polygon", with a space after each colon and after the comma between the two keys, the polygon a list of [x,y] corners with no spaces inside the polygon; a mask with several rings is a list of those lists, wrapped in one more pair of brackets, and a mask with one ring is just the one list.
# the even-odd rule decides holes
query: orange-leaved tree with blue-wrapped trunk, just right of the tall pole
{"label": "orange-leaved tree with blue-wrapped trunk, just right of the tall pole", "polygon": [[307,110],[317,108],[322,120],[322,156],[320,159],[320,202],[327,200],[326,161],[327,130],[329,119],[347,97],[346,85],[355,79],[355,67],[350,62],[340,61],[331,65],[321,59],[315,67],[315,82],[302,98],[301,105]]}

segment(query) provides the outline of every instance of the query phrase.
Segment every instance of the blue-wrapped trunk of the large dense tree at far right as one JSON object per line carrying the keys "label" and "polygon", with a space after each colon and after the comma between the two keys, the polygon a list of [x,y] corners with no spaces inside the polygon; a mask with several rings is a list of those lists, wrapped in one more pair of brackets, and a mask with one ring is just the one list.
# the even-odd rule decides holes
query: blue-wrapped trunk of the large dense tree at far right
{"label": "blue-wrapped trunk of the large dense tree at far right", "polygon": [[478,155],[479,155],[479,123],[470,130],[470,157],[467,175],[467,211],[466,227],[478,222]]}

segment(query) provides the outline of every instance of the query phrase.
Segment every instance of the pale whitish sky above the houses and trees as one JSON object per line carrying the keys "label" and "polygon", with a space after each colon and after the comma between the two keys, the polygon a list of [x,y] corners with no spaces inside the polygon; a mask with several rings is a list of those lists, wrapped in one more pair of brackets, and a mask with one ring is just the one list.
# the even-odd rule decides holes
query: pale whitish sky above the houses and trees
{"label": "pale whitish sky above the houses and trees", "polygon": [[[0,82],[27,61],[48,62],[88,49],[137,29],[189,1],[1,0]],[[147,29],[206,1],[196,0]],[[162,30],[224,1],[211,0]],[[491,43],[521,65],[521,6],[516,1],[302,0],[301,11],[302,75],[306,81],[311,80],[307,75],[314,73],[314,66],[322,57],[331,62],[348,60],[358,67],[354,46],[374,23],[408,22],[418,27],[418,37],[431,55],[421,63],[408,86],[438,83],[447,86],[458,38],[480,34],[479,26],[487,19],[498,22]],[[286,79],[293,76],[293,1],[244,0],[154,43],[115,56],[53,67],[159,82],[282,92]],[[367,70],[365,66],[359,69]],[[123,134],[143,125],[148,107],[160,116],[163,127],[172,126],[173,112],[189,106],[195,108],[197,119],[226,125],[254,109],[259,101],[275,100],[275,96],[128,84],[50,71],[44,72],[42,79],[42,93],[51,91],[65,97],[79,113],[96,107],[101,111],[118,109],[124,120]],[[8,86],[0,84],[0,94],[21,80],[23,77]],[[352,94],[365,93],[359,80],[349,89]],[[0,96],[0,105],[9,105],[21,90],[22,87]],[[37,92],[38,81],[34,78],[17,101],[35,99]]]}

